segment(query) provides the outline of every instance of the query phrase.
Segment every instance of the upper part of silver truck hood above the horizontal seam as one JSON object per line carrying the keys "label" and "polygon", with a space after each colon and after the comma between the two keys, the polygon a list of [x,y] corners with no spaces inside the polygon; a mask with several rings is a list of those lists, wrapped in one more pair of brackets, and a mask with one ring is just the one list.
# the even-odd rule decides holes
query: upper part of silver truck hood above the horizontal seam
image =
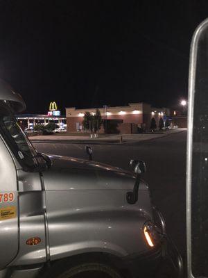
{"label": "upper part of silver truck hood above the horizontal seam", "polygon": [[[49,156],[52,165],[43,172],[46,190],[132,190],[135,174],[119,167],[68,156]],[[141,181],[141,190],[148,186]]]}

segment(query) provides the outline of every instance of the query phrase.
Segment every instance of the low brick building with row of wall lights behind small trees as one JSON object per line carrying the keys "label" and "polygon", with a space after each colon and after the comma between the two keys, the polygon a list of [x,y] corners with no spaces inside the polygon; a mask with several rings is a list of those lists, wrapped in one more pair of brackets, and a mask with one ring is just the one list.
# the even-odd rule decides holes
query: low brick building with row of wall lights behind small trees
{"label": "low brick building with row of wall lights behind small trees", "polygon": [[[143,102],[131,103],[128,106],[105,106],[98,109],[103,120],[117,123],[119,133],[137,133],[138,128],[148,130],[152,117],[155,118],[158,126],[160,117],[165,120],[170,115],[170,109],[168,108],[155,108]],[[96,108],[66,108],[67,131],[84,131],[83,119],[86,111],[94,115]],[[104,133],[102,127],[100,132]]]}

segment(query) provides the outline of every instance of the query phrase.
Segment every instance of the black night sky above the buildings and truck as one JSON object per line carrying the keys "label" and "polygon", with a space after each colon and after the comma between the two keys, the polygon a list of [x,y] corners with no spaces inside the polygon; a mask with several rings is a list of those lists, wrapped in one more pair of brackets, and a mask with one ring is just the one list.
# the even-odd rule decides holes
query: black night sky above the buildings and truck
{"label": "black night sky above the buildings and truck", "polygon": [[0,1],[0,77],[28,113],[64,107],[175,106],[208,1]]}

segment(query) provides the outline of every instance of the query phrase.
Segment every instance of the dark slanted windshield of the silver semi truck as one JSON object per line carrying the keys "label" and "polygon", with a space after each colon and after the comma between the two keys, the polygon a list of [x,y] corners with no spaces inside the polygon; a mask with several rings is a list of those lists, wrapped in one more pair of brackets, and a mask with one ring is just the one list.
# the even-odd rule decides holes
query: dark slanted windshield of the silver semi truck
{"label": "dark slanted windshield of the silver semi truck", "polygon": [[4,101],[0,101],[0,129],[1,136],[24,170],[33,170],[37,167],[37,152]]}

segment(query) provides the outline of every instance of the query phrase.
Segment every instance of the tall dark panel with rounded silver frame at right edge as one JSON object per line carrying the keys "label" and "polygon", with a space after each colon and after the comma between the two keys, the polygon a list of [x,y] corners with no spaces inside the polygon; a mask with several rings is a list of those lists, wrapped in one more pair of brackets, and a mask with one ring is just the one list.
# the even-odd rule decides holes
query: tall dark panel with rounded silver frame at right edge
{"label": "tall dark panel with rounded silver frame at right edge", "polygon": [[188,277],[208,277],[208,19],[193,35],[188,105]]}

